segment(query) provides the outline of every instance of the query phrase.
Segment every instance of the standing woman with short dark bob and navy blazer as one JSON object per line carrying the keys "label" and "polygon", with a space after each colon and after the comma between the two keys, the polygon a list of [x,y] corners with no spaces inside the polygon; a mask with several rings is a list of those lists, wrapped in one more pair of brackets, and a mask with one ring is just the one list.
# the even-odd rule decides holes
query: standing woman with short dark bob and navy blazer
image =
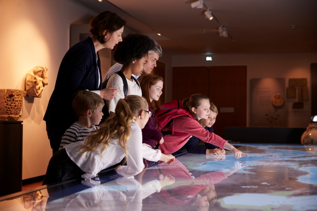
{"label": "standing woman with short dark bob and navy blazer", "polygon": [[58,151],[64,132],[78,120],[72,108],[72,96],[77,90],[91,90],[105,100],[111,100],[116,95],[116,88],[102,89],[98,51],[113,49],[121,42],[125,24],[126,21],[116,13],[101,12],[90,21],[92,36],[69,48],[62,59],[44,115],[53,153]]}

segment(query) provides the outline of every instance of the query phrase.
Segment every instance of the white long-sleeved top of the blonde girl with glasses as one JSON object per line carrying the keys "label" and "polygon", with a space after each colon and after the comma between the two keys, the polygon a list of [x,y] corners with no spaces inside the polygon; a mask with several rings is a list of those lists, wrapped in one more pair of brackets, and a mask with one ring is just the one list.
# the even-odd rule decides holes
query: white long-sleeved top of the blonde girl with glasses
{"label": "white long-sleeved top of the blonde girl with glasses", "polygon": [[[128,178],[144,169],[143,158],[157,162],[162,156],[160,150],[153,150],[142,144],[142,131],[135,121],[130,124],[130,127],[130,137],[126,143],[128,151],[127,165],[120,166],[117,169],[119,175]],[[82,144],[82,142],[75,142],[64,146],[64,148],[69,158],[82,171],[86,172],[81,176],[84,179],[96,177],[101,170],[119,163],[126,156],[124,149],[119,145],[118,139],[111,139],[109,146],[101,155],[102,145],[99,145],[94,151],[85,152],[81,155],[79,147]]]}

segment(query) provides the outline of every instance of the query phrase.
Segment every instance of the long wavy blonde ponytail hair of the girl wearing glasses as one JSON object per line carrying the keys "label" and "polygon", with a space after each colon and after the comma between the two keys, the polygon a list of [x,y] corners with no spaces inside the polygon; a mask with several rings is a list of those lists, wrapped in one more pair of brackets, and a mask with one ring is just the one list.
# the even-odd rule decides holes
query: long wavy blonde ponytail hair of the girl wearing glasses
{"label": "long wavy blonde ponytail hair of the girl wearing glasses", "polygon": [[[95,150],[99,145],[103,145],[100,154],[109,146],[110,139],[119,139],[119,145],[124,148],[126,158],[128,151],[126,142],[130,137],[130,124],[140,115],[140,111],[148,109],[148,104],[144,97],[129,95],[120,99],[115,109],[115,115],[109,117],[99,125],[99,129],[92,131],[81,146],[81,153]],[[124,161],[124,162],[125,162]]]}

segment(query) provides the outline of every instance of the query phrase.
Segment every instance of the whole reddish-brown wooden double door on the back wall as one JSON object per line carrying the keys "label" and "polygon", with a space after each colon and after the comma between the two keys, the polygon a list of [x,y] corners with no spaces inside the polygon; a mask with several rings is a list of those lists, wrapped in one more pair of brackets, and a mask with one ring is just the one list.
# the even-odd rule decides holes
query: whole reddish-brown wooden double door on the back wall
{"label": "whole reddish-brown wooden double door on the back wall", "polygon": [[173,67],[173,100],[195,93],[210,98],[218,108],[214,131],[224,136],[224,127],[246,126],[247,67]]}

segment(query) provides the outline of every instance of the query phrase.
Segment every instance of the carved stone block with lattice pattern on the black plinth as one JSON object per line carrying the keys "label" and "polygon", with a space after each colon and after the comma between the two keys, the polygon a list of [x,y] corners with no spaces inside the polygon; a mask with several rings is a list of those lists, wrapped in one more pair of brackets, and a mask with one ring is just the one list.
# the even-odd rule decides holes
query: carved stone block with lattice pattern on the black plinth
{"label": "carved stone block with lattice pattern on the black plinth", "polygon": [[25,95],[23,90],[0,89],[0,120],[18,120]]}

